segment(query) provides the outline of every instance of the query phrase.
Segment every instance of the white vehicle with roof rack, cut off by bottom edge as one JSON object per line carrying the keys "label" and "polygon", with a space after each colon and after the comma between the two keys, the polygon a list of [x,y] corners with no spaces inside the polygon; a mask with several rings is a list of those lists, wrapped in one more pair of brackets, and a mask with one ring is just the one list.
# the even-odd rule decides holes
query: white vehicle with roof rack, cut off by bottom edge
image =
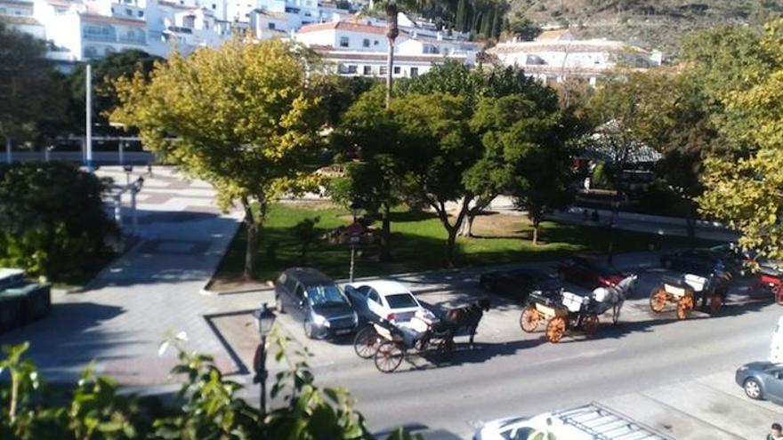
{"label": "white vehicle with roof rack, cut off by bottom edge", "polygon": [[672,440],[670,436],[596,403],[565,411],[545,412],[530,418],[508,417],[493,420],[477,428],[473,436],[473,440],[532,440],[534,438]]}

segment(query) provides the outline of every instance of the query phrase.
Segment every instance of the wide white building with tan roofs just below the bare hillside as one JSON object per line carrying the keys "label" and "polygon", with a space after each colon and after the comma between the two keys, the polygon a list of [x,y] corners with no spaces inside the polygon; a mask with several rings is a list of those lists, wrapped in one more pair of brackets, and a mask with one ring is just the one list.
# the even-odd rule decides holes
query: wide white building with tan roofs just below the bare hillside
{"label": "wide white building with tan roofs just below the bare hillside", "polygon": [[524,68],[547,82],[579,78],[593,85],[620,66],[651,68],[663,58],[661,52],[619,41],[577,40],[568,29],[545,31],[535,41],[500,43],[488,52],[506,66]]}

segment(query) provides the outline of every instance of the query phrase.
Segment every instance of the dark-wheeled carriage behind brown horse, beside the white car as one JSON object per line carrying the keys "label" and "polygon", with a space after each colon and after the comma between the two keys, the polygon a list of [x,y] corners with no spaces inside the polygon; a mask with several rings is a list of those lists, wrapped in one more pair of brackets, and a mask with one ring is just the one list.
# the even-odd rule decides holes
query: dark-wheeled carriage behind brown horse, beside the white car
{"label": "dark-wheeled carriage behind brown horse, beside the white car", "polygon": [[359,357],[373,358],[379,371],[393,372],[411,352],[433,354],[439,361],[451,359],[455,333],[454,325],[426,316],[401,323],[379,318],[356,334],[353,349]]}

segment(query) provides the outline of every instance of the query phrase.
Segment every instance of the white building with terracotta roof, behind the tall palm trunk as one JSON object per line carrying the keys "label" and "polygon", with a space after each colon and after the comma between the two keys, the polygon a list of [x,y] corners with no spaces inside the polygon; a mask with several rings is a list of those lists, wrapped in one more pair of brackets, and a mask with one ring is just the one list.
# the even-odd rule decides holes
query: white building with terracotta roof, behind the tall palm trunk
{"label": "white building with terracotta roof, behind the tall palm trunk", "polygon": [[[370,20],[365,23],[331,21],[303,26],[295,34],[298,42],[311,46],[335,65],[343,76],[386,76],[389,41],[386,28]],[[480,47],[440,33],[422,36],[403,30],[395,41],[393,75],[418,76],[445,60],[472,66]]]}

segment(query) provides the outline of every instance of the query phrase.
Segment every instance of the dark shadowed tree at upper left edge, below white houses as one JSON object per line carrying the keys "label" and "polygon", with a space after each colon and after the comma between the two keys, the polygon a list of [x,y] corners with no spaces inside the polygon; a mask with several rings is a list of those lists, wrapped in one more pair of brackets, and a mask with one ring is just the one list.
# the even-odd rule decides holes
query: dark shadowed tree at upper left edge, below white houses
{"label": "dark shadowed tree at upper left edge, below white houses", "polygon": [[0,136],[30,140],[41,124],[61,118],[65,102],[46,44],[0,20]]}

